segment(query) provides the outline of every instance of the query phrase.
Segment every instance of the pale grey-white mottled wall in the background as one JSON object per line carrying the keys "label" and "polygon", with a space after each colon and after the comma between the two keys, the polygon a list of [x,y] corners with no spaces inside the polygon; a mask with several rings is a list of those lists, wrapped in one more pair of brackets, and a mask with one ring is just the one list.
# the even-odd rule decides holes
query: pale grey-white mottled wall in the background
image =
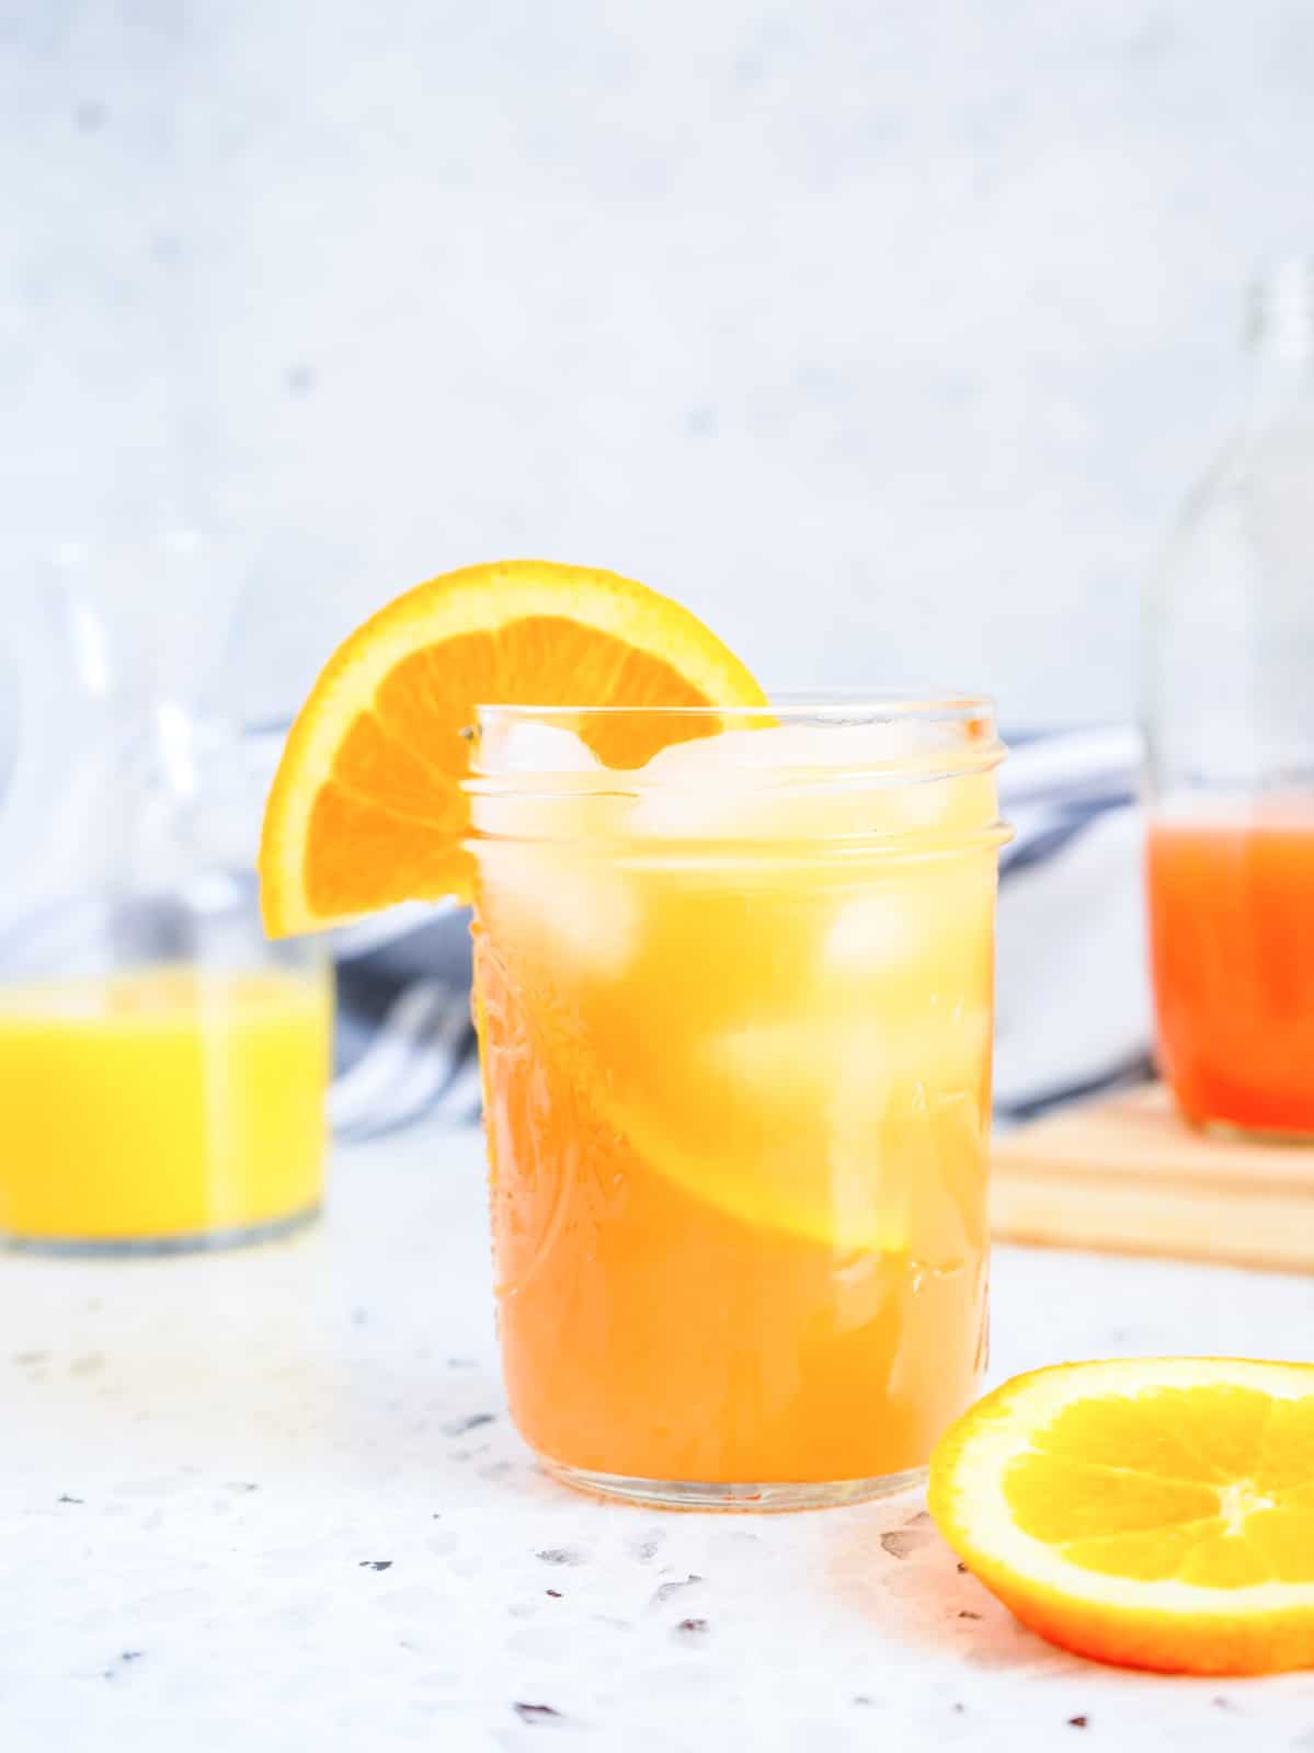
{"label": "pale grey-white mottled wall in the background", "polygon": [[770,680],[1133,705],[1314,242],[1307,0],[0,0],[0,591],[226,529],[230,684],[549,554]]}

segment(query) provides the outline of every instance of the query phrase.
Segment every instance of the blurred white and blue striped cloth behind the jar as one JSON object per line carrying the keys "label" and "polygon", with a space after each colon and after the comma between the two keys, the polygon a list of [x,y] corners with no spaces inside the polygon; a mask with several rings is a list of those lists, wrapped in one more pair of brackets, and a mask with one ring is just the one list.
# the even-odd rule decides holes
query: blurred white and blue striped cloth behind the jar
{"label": "blurred white and blue striped cloth behind the jar", "polygon": [[[1000,773],[1014,840],[1000,859],[995,1106],[1003,1124],[1149,1076],[1137,803],[1126,727],[1012,742]],[[330,1117],[365,1139],[421,1117],[479,1118],[467,915],[405,906],[333,940]]]}

